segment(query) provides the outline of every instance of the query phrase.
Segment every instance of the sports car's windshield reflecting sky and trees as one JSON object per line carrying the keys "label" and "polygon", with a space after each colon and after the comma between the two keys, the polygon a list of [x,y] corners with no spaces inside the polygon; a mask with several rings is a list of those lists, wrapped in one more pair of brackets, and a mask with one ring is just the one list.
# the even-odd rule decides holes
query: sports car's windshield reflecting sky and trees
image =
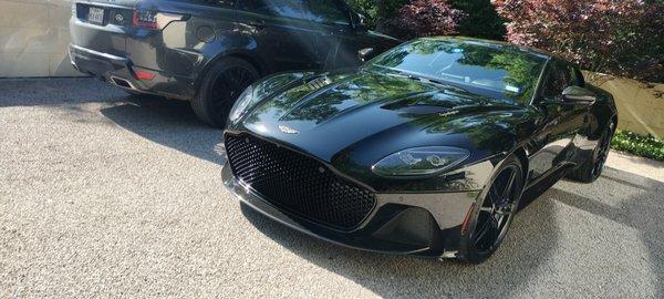
{"label": "sports car's windshield reflecting sky and trees", "polygon": [[544,55],[512,45],[419,39],[378,55],[365,69],[395,71],[456,85],[505,104],[526,105],[546,61]]}

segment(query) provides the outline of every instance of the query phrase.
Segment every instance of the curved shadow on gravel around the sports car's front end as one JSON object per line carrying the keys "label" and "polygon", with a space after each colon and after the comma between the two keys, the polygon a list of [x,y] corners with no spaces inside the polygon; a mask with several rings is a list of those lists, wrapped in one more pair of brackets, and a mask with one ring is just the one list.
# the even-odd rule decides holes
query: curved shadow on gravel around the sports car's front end
{"label": "curved shadow on gravel around the sports car's front end", "polygon": [[[481,265],[439,262],[347,249],[284,228],[250,207],[242,214],[262,234],[311,262],[381,297],[509,297],[529,282],[558,240],[549,196],[526,204],[500,250]],[[417,287],[413,287],[417,286]],[[417,293],[406,290],[417,289]]]}

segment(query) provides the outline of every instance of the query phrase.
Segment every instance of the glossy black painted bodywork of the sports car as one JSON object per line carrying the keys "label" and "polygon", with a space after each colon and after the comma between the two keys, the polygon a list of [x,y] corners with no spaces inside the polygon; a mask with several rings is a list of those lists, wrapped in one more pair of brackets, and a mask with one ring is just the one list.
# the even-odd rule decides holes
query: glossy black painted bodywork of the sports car
{"label": "glossy black painted bodywork of the sports car", "polygon": [[[377,207],[356,230],[333,233],[279,212],[250,186],[237,182],[230,167],[224,169],[225,184],[253,208],[307,234],[366,250],[454,257],[464,216],[486,195],[495,169],[507,156],[522,159],[528,192],[588,159],[609,122],[616,120],[612,96],[584,83],[575,66],[556,56],[498,42],[436,40],[484,43],[543,58],[531,96],[505,104],[481,90],[376,70],[370,61],[353,72],[282,73],[263,80],[253,85],[251,105],[226,130],[226,134],[252,134],[317,158],[377,194]],[[558,84],[554,74],[575,80]],[[593,101],[564,101],[567,85],[584,89]],[[547,94],[552,90],[558,95]],[[384,177],[371,171],[383,157],[418,146],[460,147],[470,157],[445,173],[423,177]],[[437,233],[423,237],[424,245],[385,248],[376,240],[376,231],[409,208],[430,215]],[[417,231],[421,225],[426,226],[407,223],[403,227]]]}

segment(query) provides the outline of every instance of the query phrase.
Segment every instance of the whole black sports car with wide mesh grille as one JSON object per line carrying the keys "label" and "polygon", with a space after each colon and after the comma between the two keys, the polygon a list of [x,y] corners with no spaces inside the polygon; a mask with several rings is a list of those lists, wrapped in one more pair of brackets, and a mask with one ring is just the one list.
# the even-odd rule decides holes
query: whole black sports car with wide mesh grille
{"label": "whole black sports car with wide mesh grille", "polygon": [[470,262],[497,249],[523,192],[593,182],[618,122],[570,63],[464,38],[273,75],[229,120],[224,182],[248,206],[336,244]]}

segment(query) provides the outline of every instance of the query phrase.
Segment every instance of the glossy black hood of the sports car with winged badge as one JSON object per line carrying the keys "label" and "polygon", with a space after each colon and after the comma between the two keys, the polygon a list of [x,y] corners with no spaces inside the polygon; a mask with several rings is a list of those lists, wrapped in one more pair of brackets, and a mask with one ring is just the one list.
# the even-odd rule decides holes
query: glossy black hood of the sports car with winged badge
{"label": "glossy black hood of the sports car with winged badge", "polygon": [[[473,158],[513,142],[526,110],[454,86],[398,74],[359,71],[345,74],[281,75],[257,87],[262,97],[238,126],[318,158],[353,156],[369,166],[405,147],[450,145],[471,150]],[[269,92],[262,92],[269,90]],[[238,128],[238,127],[236,127]],[[353,154],[355,153],[355,154]]]}

